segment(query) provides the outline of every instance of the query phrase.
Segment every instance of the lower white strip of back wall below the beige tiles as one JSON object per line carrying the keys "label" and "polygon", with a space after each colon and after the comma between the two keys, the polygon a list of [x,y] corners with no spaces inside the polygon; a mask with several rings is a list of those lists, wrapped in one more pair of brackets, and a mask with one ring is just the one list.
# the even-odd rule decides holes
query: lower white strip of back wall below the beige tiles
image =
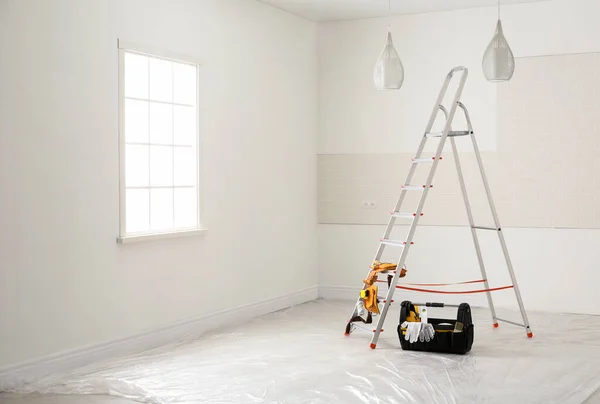
{"label": "lower white strip of back wall below the beige tiles", "polygon": [[[320,284],[326,297],[356,297],[384,231],[385,226],[320,225]],[[508,228],[503,231],[527,309],[599,313],[597,279],[593,274],[600,258],[598,230]],[[481,279],[468,228],[423,226],[417,229],[417,238],[423,242],[415,243],[410,251],[405,282]],[[496,235],[484,233],[480,242],[491,286],[510,285]],[[384,258],[396,261],[398,256],[388,249]],[[444,290],[468,289],[471,287]],[[482,289],[481,284],[473,285],[472,289]],[[401,290],[397,293],[397,301],[466,301],[487,306],[484,294],[434,295]],[[517,308],[511,289],[494,292],[494,301],[498,307]]]}

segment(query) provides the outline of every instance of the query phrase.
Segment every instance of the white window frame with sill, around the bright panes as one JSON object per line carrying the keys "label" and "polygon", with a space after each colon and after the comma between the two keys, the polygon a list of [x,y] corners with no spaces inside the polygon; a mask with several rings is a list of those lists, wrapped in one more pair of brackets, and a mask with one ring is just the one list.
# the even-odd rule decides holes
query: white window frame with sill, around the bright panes
{"label": "white window frame with sill, around the bright panes", "polygon": [[[198,63],[194,58],[175,54],[173,52],[167,52],[163,50],[149,48],[138,44],[124,42],[117,40],[118,48],[118,60],[119,60],[119,91],[118,91],[118,105],[119,105],[119,236],[117,242],[120,244],[138,242],[138,241],[150,241],[164,238],[173,237],[185,237],[202,234],[206,231],[203,227],[202,221],[202,145],[200,136],[200,68],[202,65]],[[131,233],[127,234],[126,219],[127,219],[127,206],[126,206],[126,172],[125,172],[125,52],[139,54],[142,56],[152,57],[156,59],[163,59],[169,62],[184,63],[193,65],[196,67],[196,226],[185,229],[169,229],[164,231],[152,231],[149,230],[147,233]],[[149,100],[150,102],[150,100]],[[149,187],[151,187],[149,185]],[[175,189],[175,188],[174,188]],[[175,206],[173,206],[175,209]]]}

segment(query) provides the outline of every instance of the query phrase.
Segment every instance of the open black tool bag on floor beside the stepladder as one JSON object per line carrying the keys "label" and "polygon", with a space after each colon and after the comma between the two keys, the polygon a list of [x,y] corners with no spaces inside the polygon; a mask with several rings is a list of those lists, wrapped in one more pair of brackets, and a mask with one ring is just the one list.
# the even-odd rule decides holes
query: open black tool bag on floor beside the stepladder
{"label": "open black tool bag on floor beside the stepladder", "polygon": [[[444,307],[443,303],[427,303],[427,307]],[[427,322],[433,325],[435,335],[429,342],[410,343],[405,340],[405,329],[402,329],[402,323],[410,316],[410,312],[416,313],[415,306],[409,302],[402,302],[400,309],[400,324],[398,325],[398,336],[403,350],[444,352],[454,354],[465,354],[471,350],[473,345],[473,320],[471,318],[471,307],[467,303],[462,303],[458,307],[456,319],[427,319]]]}

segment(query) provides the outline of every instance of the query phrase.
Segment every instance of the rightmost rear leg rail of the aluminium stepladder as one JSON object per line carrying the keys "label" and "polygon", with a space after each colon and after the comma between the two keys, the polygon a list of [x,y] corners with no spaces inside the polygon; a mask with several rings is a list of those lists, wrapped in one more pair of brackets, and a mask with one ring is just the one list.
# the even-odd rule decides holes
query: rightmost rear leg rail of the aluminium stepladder
{"label": "rightmost rear leg rail of the aluminium stepladder", "polygon": [[[471,125],[471,117],[469,116],[469,111],[467,111],[464,104],[460,104],[462,108],[465,118],[467,120],[467,124]],[[483,186],[485,188],[485,193],[487,195],[488,202],[490,204],[490,210],[492,212],[492,217],[494,218],[494,225],[499,230],[498,239],[500,240],[500,245],[502,247],[502,253],[504,254],[504,259],[506,260],[506,266],[508,267],[508,273],[510,275],[510,279],[513,284],[513,289],[515,291],[515,297],[517,299],[517,303],[519,304],[519,309],[521,310],[521,316],[523,317],[523,323],[525,324],[525,331],[527,332],[528,337],[532,337],[531,327],[529,324],[529,318],[527,317],[527,312],[525,311],[525,305],[523,304],[523,298],[521,297],[521,291],[519,289],[519,285],[517,282],[517,277],[515,276],[514,267],[512,261],[510,259],[510,255],[508,254],[508,247],[506,245],[506,240],[504,239],[504,233],[502,231],[502,226],[500,225],[500,220],[498,218],[498,213],[496,211],[496,205],[494,204],[494,200],[492,198],[492,191],[490,189],[490,185],[487,180],[487,175],[485,174],[485,169],[483,167],[483,161],[481,159],[481,153],[479,151],[479,146],[477,145],[477,140],[475,139],[475,135],[471,132],[471,141],[473,142],[473,150],[475,151],[475,157],[477,158],[477,165],[479,166],[479,171],[481,173],[481,178],[483,180]]]}

